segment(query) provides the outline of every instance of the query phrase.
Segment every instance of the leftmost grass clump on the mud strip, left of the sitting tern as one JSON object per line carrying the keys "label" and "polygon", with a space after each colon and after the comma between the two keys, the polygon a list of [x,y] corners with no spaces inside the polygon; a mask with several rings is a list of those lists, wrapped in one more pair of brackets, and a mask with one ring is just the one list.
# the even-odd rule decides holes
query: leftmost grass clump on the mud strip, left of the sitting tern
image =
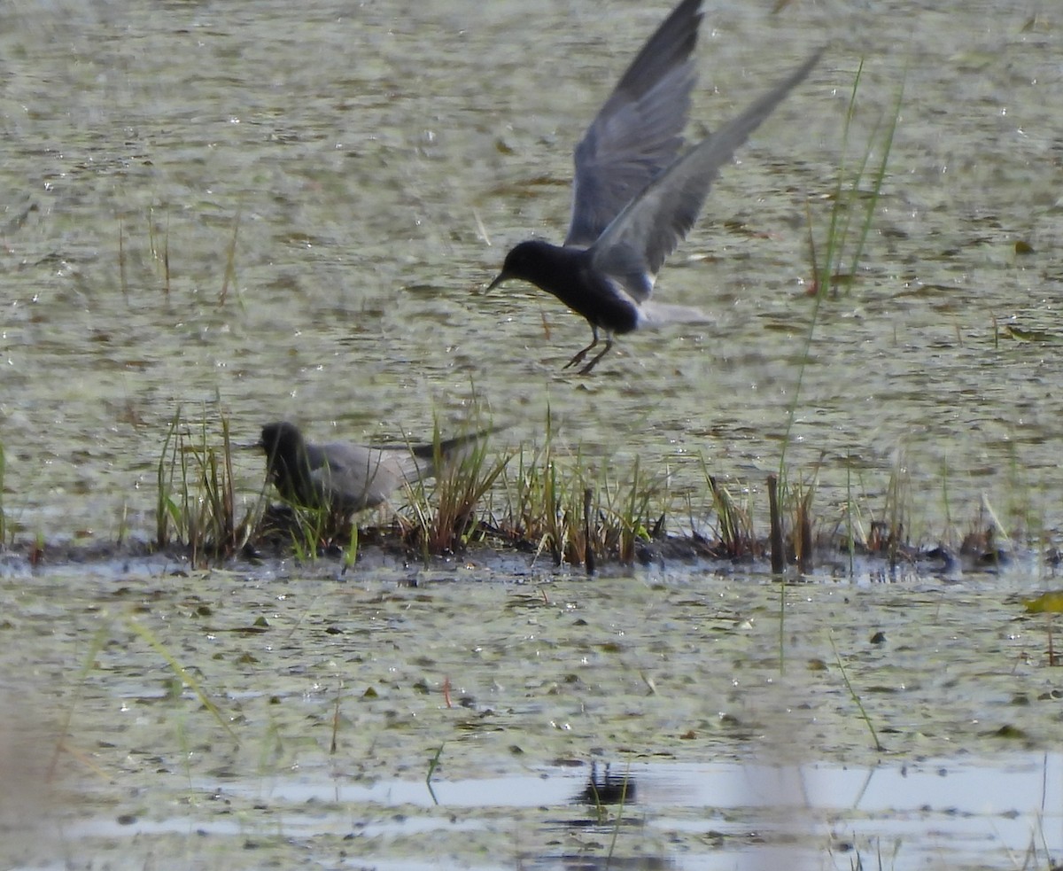
{"label": "leftmost grass clump on the mud strip, left of the sitting tern", "polygon": [[213,439],[205,416],[187,426],[179,408],[158,458],[155,545],[185,547],[192,562],[235,553],[254,525],[251,512],[236,521],[233,445],[224,414],[220,443]]}

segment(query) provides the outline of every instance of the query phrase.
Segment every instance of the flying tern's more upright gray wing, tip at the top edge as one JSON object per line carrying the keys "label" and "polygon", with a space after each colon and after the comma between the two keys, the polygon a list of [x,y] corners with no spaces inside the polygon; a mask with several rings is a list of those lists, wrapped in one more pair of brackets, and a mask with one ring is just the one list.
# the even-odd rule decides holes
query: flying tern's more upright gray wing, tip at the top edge
{"label": "flying tern's more upright gray wing, tip at the top edge", "polygon": [[566,245],[588,247],[675,161],[694,86],[702,0],[684,0],[646,40],[576,146]]}

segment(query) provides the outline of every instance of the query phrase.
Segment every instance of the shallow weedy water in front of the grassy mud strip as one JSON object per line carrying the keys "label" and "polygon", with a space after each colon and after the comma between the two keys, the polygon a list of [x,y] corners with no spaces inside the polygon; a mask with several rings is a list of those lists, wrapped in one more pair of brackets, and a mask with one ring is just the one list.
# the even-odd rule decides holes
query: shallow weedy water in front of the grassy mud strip
{"label": "shallow weedy water in front of the grassy mud strip", "polygon": [[1063,688],[1029,577],[175,568],[2,582],[0,759],[28,785],[0,805],[9,866],[1063,850]]}

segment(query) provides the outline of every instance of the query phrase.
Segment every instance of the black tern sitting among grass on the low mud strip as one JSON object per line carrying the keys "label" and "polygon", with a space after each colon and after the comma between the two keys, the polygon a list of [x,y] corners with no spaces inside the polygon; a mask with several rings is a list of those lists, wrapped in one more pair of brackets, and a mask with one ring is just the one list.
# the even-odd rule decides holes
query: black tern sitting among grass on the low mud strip
{"label": "black tern sitting among grass on the low mud strip", "polygon": [[[492,430],[439,443],[440,456],[454,459]],[[351,515],[385,502],[404,484],[436,473],[435,445],[370,448],[348,441],[311,445],[293,423],[263,426],[258,447],[266,452],[266,474],[286,502]]]}

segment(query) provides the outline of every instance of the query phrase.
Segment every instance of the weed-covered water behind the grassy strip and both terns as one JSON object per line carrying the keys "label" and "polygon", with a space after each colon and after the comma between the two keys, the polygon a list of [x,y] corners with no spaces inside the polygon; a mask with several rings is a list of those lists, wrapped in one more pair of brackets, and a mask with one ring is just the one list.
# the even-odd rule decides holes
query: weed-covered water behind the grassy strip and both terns
{"label": "weed-covered water behind the grassy strip and both terns", "polygon": [[[508,246],[563,236],[572,146],[664,6],[551,2],[535,27],[516,2],[0,11],[10,521],[150,532],[179,409],[229,415],[237,441],[277,418],[403,441],[475,391],[510,424],[500,449],[541,439],[549,403],[562,442],[667,467],[695,515],[703,458],[760,505],[786,439],[828,523],[854,495],[883,510],[896,472],[924,534],[984,493],[1053,535],[1058,28],[991,2],[765,5],[707,5],[691,136],[830,49],[661,274],[662,300],[719,322],[622,337],[589,379],[560,369],[579,318],[519,283],[479,291]],[[808,216],[823,251],[838,167],[879,141],[901,79],[858,279],[815,308]],[[260,458],[237,464],[254,499]]]}

